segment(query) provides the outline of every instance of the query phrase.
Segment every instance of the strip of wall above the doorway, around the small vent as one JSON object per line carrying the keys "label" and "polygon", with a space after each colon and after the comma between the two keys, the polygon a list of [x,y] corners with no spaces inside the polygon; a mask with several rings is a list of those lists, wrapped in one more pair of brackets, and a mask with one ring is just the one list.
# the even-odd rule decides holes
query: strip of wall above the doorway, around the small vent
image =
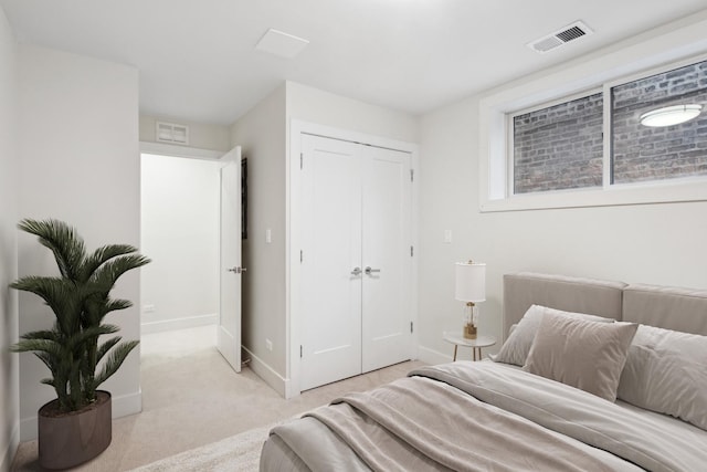
{"label": "strip of wall above the doorway, around the small vent", "polygon": [[231,150],[231,127],[208,123],[194,123],[180,118],[140,115],[140,141],[157,143],[157,122],[189,126],[189,147],[198,149]]}

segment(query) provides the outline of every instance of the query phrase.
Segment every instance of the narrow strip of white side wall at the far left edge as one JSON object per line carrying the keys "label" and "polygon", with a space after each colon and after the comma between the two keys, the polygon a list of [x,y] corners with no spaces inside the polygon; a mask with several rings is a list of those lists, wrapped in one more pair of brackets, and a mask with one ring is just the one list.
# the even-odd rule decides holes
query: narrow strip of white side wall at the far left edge
{"label": "narrow strip of white side wall at the far left edge", "polygon": [[8,349],[18,339],[18,294],[8,284],[18,276],[17,44],[0,8],[0,471],[20,440],[19,359]]}

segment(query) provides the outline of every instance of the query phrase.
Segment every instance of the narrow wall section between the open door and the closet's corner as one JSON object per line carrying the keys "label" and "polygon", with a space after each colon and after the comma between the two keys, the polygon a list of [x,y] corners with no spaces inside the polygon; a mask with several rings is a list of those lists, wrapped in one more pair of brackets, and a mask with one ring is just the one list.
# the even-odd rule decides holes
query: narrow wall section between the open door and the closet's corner
{"label": "narrow wall section between the open door and the closet's corner", "polygon": [[[271,385],[286,375],[285,339],[285,85],[241,117],[231,141],[247,158],[247,241],[243,242],[242,343]],[[271,230],[272,242],[265,241]],[[265,338],[273,350],[265,348]]]}

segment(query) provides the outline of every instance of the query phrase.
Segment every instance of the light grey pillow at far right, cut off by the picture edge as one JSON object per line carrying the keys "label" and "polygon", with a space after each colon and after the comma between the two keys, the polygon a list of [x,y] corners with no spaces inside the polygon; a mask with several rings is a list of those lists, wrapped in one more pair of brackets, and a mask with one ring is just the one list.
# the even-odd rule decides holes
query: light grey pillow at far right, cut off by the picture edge
{"label": "light grey pillow at far right, cut off by the picture edge", "polygon": [[707,336],[639,326],[618,394],[707,430]]}

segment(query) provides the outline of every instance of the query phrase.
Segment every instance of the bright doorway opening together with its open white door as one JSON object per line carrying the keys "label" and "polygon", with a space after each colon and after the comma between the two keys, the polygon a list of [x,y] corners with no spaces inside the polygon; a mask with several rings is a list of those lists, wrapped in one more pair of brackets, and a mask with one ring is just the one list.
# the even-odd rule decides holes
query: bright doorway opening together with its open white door
{"label": "bright doorway opening together with its open white door", "polygon": [[[215,346],[241,371],[241,148],[141,155],[141,333]],[[184,329],[187,332],[184,339]],[[167,337],[167,345],[171,337]]]}

